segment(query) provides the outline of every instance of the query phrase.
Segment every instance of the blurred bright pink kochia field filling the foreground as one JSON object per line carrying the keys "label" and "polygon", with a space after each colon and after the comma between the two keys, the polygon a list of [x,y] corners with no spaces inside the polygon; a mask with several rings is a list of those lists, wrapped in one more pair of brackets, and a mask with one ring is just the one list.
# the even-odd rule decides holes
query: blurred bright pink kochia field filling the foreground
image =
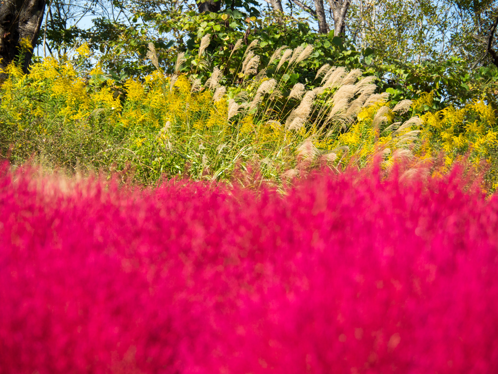
{"label": "blurred bright pink kochia field filling the foreground", "polygon": [[[498,373],[498,199],[0,171],[0,373]],[[62,187],[61,187],[62,186]]]}

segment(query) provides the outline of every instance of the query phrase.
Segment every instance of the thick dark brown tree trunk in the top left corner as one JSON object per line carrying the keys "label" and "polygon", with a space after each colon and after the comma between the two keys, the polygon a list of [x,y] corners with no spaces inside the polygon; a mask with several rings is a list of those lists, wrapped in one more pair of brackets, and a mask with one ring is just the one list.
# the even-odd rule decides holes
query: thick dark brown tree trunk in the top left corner
{"label": "thick dark brown tree trunk in the top left corner", "polygon": [[[0,69],[5,70],[15,58],[20,57],[22,71],[28,72],[28,66],[33,56],[33,46],[36,44],[40,31],[45,0],[4,0],[0,5]],[[31,47],[20,48],[20,41],[28,41]],[[20,51],[23,55],[19,56]],[[0,73],[0,81],[6,78]]]}

